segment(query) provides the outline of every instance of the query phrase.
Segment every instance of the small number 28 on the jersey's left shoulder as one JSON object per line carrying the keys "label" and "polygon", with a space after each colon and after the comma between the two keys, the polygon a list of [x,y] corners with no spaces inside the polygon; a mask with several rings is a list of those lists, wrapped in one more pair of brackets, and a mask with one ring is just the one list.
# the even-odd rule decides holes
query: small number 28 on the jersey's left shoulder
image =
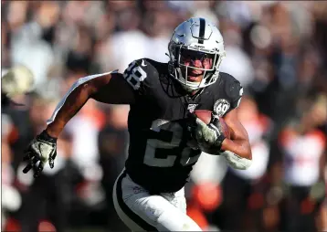
{"label": "small number 28 on the jersey's left shoulder", "polygon": [[132,86],[132,89],[138,90],[141,85],[141,81],[146,79],[146,72],[136,63],[136,60],[132,61],[129,67],[123,73],[124,79]]}

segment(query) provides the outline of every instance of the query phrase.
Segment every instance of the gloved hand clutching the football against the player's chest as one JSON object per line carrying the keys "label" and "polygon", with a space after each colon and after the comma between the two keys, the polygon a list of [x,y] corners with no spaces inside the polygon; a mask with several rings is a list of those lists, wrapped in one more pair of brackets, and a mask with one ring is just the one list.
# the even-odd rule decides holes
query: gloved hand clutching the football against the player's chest
{"label": "gloved hand clutching the football against the player's chest", "polygon": [[199,147],[205,153],[218,154],[221,144],[226,139],[219,121],[219,117],[213,114],[209,124],[199,118],[195,119],[193,136]]}

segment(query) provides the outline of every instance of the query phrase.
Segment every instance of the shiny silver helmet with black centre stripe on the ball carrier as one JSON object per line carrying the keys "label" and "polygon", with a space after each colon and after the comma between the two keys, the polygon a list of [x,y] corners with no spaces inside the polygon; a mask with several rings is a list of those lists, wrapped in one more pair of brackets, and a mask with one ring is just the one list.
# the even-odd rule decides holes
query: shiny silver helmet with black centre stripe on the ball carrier
{"label": "shiny silver helmet with black centre stripe on the ball carrier", "polygon": [[[216,82],[219,66],[225,57],[223,37],[218,28],[205,18],[193,17],[174,29],[168,45],[169,73],[182,83],[185,90],[197,90]],[[199,69],[183,63],[185,57],[212,58],[210,69]],[[203,70],[200,82],[189,81],[187,73],[192,69]]]}

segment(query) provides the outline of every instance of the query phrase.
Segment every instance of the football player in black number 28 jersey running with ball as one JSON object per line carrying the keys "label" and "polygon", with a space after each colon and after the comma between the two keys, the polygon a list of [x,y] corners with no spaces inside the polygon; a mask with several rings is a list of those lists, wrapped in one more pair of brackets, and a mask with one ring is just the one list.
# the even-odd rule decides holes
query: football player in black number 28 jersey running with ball
{"label": "football player in black number 28 jersey running with ball", "polygon": [[[118,215],[132,230],[201,230],[186,215],[184,186],[202,151],[228,151],[227,161],[235,168],[251,163],[248,134],[237,119],[243,89],[237,79],[219,72],[223,37],[205,18],[177,26],[168,50],[168,63],[141,58],[123,73],[91,75],[73,84],[47,128],[28,146],[23,172],[33,169],[37,177],[47,162],[54,166],[58,135],[87,100],[129,104],[129,155],[113,191]],[[195,110],[215,115],[206,124]],[[217,117],[233,131],[231,139]]]}

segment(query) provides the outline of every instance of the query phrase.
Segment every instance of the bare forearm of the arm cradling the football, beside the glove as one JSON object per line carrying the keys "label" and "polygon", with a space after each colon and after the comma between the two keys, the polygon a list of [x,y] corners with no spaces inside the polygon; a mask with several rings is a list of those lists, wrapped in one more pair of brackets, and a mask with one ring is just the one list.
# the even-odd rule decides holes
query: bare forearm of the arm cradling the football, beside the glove
{"label": "bare forearm of the arm cradling the football, beside the glove", "polygon": [[247,140],[229,140],[225,139],[222,143],[221,149],[224,151],[230,151],[232,153],[236,153],[242,158],[246,158],[248,160],[252,160],[251,147]]}

